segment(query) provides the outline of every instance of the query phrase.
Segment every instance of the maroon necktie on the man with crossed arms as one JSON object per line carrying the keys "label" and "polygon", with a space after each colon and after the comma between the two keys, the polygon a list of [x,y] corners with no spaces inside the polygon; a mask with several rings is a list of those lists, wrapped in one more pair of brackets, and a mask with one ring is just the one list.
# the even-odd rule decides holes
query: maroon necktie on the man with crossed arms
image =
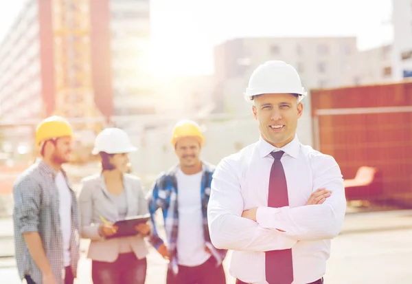
{"label": "maroon necktie on the man with crossed arms", "polygon": [[[289,205],[288,185],[280,158],[284,151],[272,152],[275,159],[269,179],[268,207]],[[293,282],[292,250],[271,250],[265,252],[266,281],[269,284],[290,284]]]}

